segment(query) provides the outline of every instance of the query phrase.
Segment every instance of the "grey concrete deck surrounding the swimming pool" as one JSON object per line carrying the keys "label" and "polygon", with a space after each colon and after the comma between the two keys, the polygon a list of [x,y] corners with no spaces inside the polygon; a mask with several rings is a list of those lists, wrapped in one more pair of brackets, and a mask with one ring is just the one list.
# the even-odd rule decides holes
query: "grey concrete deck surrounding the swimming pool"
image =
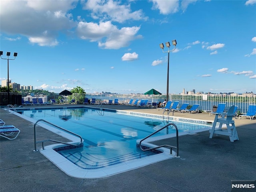
{"label": "grey concrete deck surrounding the swimming pool", "polygon": [[[82,106],[82,105],[52,105]],[[86,105],[85,105],[86,106]],[[95,105],[89,105],[96,107]],[[38,108],[46,106],[26,106]],[[49,107],[49,106],[47,106]],[[124,105],[104,108],[149,114],[162,111]],[[170,113],[170,115],[172,112]],[[213,122],[208,113],[174,112],[174,116]],[[228,136],[199,132],[179,137],[179,156],[114,176],[98,179],[70,177],[40,152],[34,150],[34,126],[4,109],[0,119],[20,129],[15,140],[0,137],[0,191],[8,192],[227,192],[231,180],[256,179],[256,118],[234,119],[239,140]],[[51,138],[52,133],[38,129],[38,137]],[[59,137],[59,136],[57,136]],[[54,136],[56,139],[56,136]],[[66,141],[64,138],[58,138]],[[154,144],[176,144],[175,138]],[[38,148],[40,145],[38,144]],[[245,190],[245,189],[243,189]],[[250,189],[247,189],[250,191]],[[246,191],[247,191],[246,190]],[[234,190],[239,191],[239,190]]]}

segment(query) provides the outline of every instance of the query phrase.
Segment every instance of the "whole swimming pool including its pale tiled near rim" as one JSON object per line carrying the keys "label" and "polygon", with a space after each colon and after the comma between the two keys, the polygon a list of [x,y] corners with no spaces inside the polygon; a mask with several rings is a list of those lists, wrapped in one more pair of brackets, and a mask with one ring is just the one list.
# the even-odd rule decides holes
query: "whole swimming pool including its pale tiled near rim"
{"label": "whole swimming pool including its pale tiled near rim", "polygon": [[[18,109],[18,113],[30,120],[44,119],[62,128],[79,134],[84,139],[84,147],[72,150],[56,150],[62,144],[47,146],[41,153],[49,158],[66,174],[80,178],[99,178],[131,170],[147,164],[174,157],[166,148],[159,154],[143,152],[136,148],[137,140],[162,128],[168,122],[160,116],[131,113],[116,110],[96,110],[91,108],[30,108]],[[128,113],[130,113],[128,115]],[[207,124],[172,121],[180,132],[202,130]],[[42,126],[42,124],[40,124]],[[49,126],[54,132],[59,130]],[[149,141],[159,137],[170,137],[175,128],[162,130]],[[64,135],[63,135],[64,136]],[[67,135],[65,137],[68,138]],[[152,146],[152,144],[146,144]],[[53,150],[55,149],[58,154]]]}

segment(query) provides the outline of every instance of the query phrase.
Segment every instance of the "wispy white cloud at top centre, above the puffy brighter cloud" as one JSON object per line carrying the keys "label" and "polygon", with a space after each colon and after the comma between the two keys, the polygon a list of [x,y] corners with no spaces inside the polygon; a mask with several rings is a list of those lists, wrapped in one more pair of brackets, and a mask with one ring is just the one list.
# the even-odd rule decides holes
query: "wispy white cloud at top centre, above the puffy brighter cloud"
{"label": "wispy white cloud at top centre, above the puffy brighter cloud", "polygon": [[[120,4],[121,1],[101,1],[101,0],[88,0],[83,9],[91,10],[91,16],[94,19],[112,20],[115,22],[124,22],[126,20],[147,20],[142,10],[132,12],[129,1],[126,4]],[[122,1],[124,3],[124,1]]]}

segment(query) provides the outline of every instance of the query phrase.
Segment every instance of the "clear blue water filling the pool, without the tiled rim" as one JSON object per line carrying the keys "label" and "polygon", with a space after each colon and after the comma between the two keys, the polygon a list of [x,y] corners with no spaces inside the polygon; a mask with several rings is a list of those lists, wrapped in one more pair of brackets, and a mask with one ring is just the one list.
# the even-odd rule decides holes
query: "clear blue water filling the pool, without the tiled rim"
{"label": "clear blue water filling the pool, without the tiled rim", "polygon": [[[18,113],[35,120],[44,119],[84,139],[84,147],[58,151],[59,154],[82,169],[98,169],[105,166],[152,156],[136,147],[142,139],[166,124],[161,118],[127,115],[108,110],[90,108],[51,108],[18,110]],[[173,122],[179,132],[206,128],[206,124]],[[155,136],[176,133],[171,127]]]}

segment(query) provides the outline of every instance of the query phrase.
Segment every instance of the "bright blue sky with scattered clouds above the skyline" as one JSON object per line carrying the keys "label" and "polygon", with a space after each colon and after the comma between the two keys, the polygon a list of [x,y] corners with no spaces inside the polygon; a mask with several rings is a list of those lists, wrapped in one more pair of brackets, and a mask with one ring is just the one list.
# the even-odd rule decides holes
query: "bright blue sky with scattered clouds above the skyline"
{"label": "bright blue sky with scattered clouds above the skyline", "polygon": [[169,93],[256,93],[256,0],[1,0],[0,29],[21,86],[166,94],[176,39]]}

